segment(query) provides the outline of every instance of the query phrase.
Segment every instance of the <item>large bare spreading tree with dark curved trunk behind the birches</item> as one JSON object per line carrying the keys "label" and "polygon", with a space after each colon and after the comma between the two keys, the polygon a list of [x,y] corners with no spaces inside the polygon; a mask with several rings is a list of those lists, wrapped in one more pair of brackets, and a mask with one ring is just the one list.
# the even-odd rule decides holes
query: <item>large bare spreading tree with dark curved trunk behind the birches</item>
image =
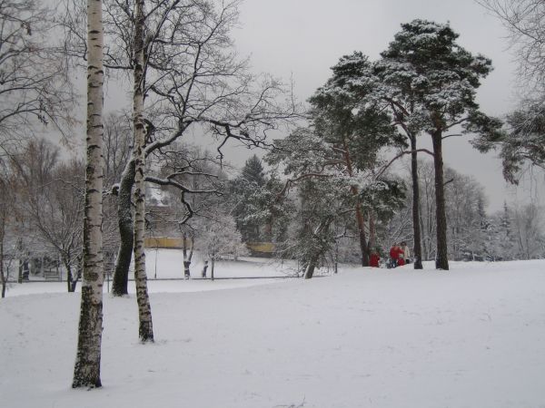
{"label": "large bare spreading tree with dark curved trunk behind the birches", "polygon": [[[82,56],[77,26],[81,8],[74,4],[65,22],[72,33],[68,52]],[[106,21],[112,40],[105,66],[134,70],[134,1],[106,2]],[[233,50],[230,31],[237,24],[239,2],[154,0],[144,15],[143,92],[145,110],[144,157],[162,151],[195,130],[218,140],[218,156],[228,140],[249,146],[263,145],[268,131],[298,117],[292,95],[270,76],[249,73],[247,60]],[[79,11],[78,11],[79,10]],[[79,44],[79,46],[78,46]],[[150,182],[160,178],[144,176]],[[169,185],[162,179],[159,184]],[[128,274],[131,253],[126,242],[133,239],[133,219],[127,203],[134,186],[134,159],[127,162],[119,189],[121,247],[117,257],[114,294],[124,295],[126,286],[116,287],[118,274]],[[182,191],[189,192],[184,186]],[[123,225],[122,225],[123,224]],[[123,252],[122,252],[123,250]]]}

